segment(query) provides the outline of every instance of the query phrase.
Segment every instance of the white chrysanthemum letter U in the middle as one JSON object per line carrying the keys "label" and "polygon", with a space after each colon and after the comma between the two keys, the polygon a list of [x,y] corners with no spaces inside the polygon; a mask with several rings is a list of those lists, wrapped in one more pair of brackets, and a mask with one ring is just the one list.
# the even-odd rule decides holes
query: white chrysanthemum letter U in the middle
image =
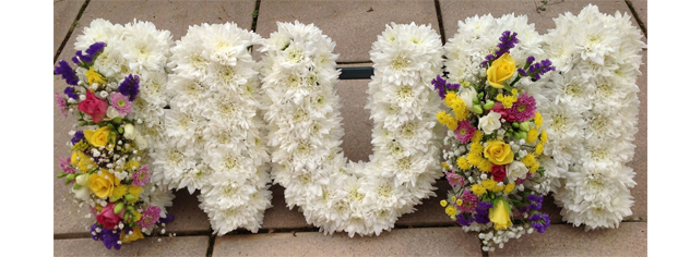
{"label": "white chrysanthemum letter U in the middle", "polygon": [[441,72],[440,36],[430,26],[392,24],[371,50],[368,109],[374,121],[371,162],[347,162],[341,138],[335,47],[313,24],[278,23],[262,65],[270,105],[273,178],[288,206],[324,233],[391,230],[440,178],[432,133],[439,110],[430,81]]}

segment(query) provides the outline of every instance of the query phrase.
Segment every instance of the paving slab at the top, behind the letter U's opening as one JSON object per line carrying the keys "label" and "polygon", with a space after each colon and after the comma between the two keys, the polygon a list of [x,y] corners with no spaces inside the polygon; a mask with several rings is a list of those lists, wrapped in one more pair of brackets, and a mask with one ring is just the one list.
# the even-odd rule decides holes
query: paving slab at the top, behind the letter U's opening
{"label": "paving slab at the top, behind the letter U's opening", "polygon": [[263,0],[257,32],[267,38],[277,30],[276,22],[313,23],[331,37],[337,62],[368,62],[377,36],[392,22],[431,24],[439,32],[432,0]]}

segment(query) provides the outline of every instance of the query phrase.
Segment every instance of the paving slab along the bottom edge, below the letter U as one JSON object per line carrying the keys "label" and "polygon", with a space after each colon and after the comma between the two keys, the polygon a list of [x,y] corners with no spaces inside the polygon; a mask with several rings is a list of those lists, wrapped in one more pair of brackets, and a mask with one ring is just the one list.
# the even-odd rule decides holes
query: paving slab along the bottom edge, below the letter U
{"label": "paving slab along the bottom edge, below the letter U", "polygon": [[235,234],[216,237],[213,246],[213,256],[357,255],[481,256],[481,247],[476,233],[460,228],[398,229],[352,238],[346,233],[319,232]]}

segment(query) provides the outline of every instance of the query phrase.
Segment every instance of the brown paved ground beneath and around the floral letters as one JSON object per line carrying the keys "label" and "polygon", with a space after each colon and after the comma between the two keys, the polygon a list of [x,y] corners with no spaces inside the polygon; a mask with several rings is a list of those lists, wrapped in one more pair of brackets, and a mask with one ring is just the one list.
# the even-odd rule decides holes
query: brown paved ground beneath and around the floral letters
{"label": "brown paved ground beneath and around the floral letters", "polygon": [[[55,0],[53,1],[53,60],[68,60],[73,53],[74,40],[92,20],[103,17],[112,23],[124,24],[133,19],[153,22],[156,27],[168,29],[174,39],[187,33],[189,25],[201,23],[225,23],[233,21],[242,28],[254,27],[263,37],[276,29],[275,22],[314,23],[337,44],[342,66],[371,65],[369,50],[391,22],[431,24],[444,40],[455,34],[457,21],[475,14],[505,13],[527,14],[539,33],[554,27],[551,19],[563,12],[579,13],[592,2],[602,12],[616,11],[633,14],[633,22],[643,29],[646,41],[645,0],[551,0],[546,11],[537,12],[537,0],[236,0],[236,1],[102,1],[102,0]],[[258,10],[258,17],[252,13]],[[255,23],[254,23],[255,22]],[[254,25],[252,25],[254,24]],[[646,63],[646,50],[643,62]],[[86,227],[92,220],[83,218],[86,209],[71,203],[62,180],[53,183],[53,255],[146,255],[146,256],[312,256],[312,255],[469,255],[469,256],[640,256],[647,250],[647,77],[646,65],[638,78],[640,86],[640,132],[638,133],[634,160],[631,166],[637,172],[638,185],[632,189],[635,205],[633,216],[621,223],[618,230],[584,232],[560,221],[560,209],[546,201],[554,224],[544,235],[531,235],[510,242],[504,249],[481,253],[476,234],[461,231],[438,206],[439,199],[427,199],[417,206],[415,213],[402,217],[396,229],[381,236],[354,237],[337,233],[325,236],[317,228],[308,225],[297,209],[288,210],[283,198],[283,188],[274,185],[273,205],[266,211],[264,225],[258,234],[237,231],[224,236],[214,236],[206,215],[198,207],[195,196],[186,191],[176,193],[177,198],[169,212],[176,221],[167,231],[176,237],[148,237],[126,245],[121,250],[108,250],[100,242],[91,240]],[[369,113],[364,109],[369,79],[341,81],[338,94],[345,109],[342,110],[345,125],[343,148],[352,160],[368,160],[371,154]],[[57,76],[53,90],[62,91],[64,83]],[[59,172],[58,157],[67,156],[68,131],[71,123],[53,110],[53,172]],[[437,183],[437,194],[445,195],[450,186],[444,181]]]}

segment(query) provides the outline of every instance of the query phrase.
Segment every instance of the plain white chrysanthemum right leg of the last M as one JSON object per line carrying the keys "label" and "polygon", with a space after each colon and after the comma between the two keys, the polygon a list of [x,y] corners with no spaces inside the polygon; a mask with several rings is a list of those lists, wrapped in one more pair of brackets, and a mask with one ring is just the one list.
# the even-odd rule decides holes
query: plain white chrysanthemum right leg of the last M
{"label": "plain white chrysanthemum right leg of the last M", "polygon": [[545,152],[554,158],[545,166],[566,179],[556,201],[575,225],[618,228],[632,215],[635,173],[627,163],[638,132],[642,35],[628,14],[603,14],[592,4],[554,21],[545,51],[560,73],[547,84],[543,114]]}

